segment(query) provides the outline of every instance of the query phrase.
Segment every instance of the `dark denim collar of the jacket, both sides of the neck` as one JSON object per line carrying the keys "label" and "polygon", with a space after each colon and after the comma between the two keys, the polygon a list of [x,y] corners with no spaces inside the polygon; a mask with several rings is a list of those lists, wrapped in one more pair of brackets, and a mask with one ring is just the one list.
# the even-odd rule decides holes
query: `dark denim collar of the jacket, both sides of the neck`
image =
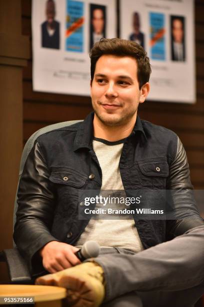
{"label": "dark denim collar of the jacket, both sides of the neck", "polygon": [[[74,139],[74,144],[73,144],[74,151],[79,148],[88,148],[89,150],[92,149],[93,117],[94,117],[94,112],[91,112],[80,123]],[[138,135],[137,132],[141,132],[141,134],[144,136],[144,139],[147,140],[144,129],[142,127],[141,120],[138,115],[136,116],[136,122],[131,134],[136,136]]]}

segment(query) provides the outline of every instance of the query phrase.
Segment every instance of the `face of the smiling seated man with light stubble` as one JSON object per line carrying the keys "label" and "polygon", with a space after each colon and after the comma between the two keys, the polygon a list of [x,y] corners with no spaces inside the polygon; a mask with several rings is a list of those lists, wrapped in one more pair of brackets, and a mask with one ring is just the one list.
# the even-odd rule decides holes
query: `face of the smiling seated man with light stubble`
{"label": "face of the smiling seated man with light stubble", "polygon": [[132,57],[103,55],[96,62],[90,87],[92,107],[98,119],[107,126],[128,123],[143,96],[137,80],[137,64]]}

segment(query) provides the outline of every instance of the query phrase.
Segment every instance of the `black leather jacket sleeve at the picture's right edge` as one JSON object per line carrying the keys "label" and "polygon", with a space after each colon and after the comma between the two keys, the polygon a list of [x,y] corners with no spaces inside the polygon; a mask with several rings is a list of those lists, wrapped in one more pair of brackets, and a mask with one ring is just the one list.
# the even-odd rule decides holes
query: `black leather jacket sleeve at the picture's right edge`
{"label": "black leather jacket sleeve at the picture's right edge", "polygon": [[174,220],[166,221],[167,237],[172,239],[173,237],[181,235],[191,228],[204,225],[203,219],[200,217],[196,208],[192,192],[193,186],[190,182],[187,157],[179,138],[177,141],[176,156],[169,167],[169,176],[166,189],[180,191],[174,194],[175,206],[178,208],[178,210],[183,210],[183,218],[177,216],[177,218]]}

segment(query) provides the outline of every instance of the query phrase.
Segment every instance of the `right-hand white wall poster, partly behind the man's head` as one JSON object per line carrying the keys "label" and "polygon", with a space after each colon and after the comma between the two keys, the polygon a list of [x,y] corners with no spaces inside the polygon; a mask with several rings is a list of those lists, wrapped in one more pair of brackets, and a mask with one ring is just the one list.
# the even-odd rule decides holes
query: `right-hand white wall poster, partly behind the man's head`
{"label": "right-hand white wall poster, partly behind the man's head", "polygon": [[149,100],[195,102],[193,0],[120,0],[120,37],[150,59]]}

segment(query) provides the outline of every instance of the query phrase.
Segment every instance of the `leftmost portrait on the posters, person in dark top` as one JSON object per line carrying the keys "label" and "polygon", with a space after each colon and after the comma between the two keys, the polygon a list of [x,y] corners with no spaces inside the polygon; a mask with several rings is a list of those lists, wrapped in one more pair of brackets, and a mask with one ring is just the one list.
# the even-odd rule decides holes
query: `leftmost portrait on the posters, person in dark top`
{"label": "leftmost portrait on the posters, person in dark top", "polygon": [[46,21],[41,24],[41,47],[59,49],[59,22],[55,18],[54,0],[47,0],[45,4]]}

